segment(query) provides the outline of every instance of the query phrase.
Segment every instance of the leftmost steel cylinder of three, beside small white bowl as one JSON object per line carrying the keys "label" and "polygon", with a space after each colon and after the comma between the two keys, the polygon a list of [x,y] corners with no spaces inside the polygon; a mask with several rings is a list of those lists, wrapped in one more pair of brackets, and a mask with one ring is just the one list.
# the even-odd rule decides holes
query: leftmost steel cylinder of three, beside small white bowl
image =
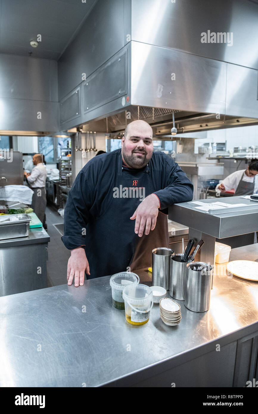
{"label": "leftmost steel cylinder of three, beside small white bowl", "polygon": [[157,247],[152,250],[152,285],[162,286],[169,290],[170,256],[174,250]]}

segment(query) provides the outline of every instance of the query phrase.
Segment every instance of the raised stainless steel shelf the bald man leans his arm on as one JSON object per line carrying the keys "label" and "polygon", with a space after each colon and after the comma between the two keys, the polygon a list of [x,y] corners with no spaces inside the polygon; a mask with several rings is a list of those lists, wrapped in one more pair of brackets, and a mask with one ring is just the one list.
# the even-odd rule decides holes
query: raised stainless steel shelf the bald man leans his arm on
{"label": "raised stainless steel shelf the bald man leans his arm on", "polygon": [[[197,200],[194,200],[197,201]],[[218,202],[218,198],[198,200],[203,203]],[[191,202],[173,204],[169,207],[169,219],[189,227],[189,239],[196,242],[203,239],[205,244],[197,253],[196,260],[213,264],[215,253],[215,239],[239,236],[240,234],[258,231],[258,202],[239,197],[223,197],[220,202],[226,204],[245,204],[246,210],[209,214],[196,209]],[[241,209],[241,207],[239,207]],[[223,240],[221,241],[223,243]]]}

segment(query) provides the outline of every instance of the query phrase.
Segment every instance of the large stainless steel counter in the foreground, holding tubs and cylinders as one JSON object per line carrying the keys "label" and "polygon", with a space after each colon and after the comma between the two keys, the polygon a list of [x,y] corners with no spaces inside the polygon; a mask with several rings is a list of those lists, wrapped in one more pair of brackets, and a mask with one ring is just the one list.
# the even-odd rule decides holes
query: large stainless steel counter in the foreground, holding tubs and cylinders
{"label": "large stainless steel counter in the foreground, holding tubs and cylinders", "polygon": [[149,322],[133,326],[112,306],[109,276],[2,297],[0,384],[243,387],[257,378],[258,282],[215,276],[205,313],[177,302],[178,326],[164,325],[155,304]]}

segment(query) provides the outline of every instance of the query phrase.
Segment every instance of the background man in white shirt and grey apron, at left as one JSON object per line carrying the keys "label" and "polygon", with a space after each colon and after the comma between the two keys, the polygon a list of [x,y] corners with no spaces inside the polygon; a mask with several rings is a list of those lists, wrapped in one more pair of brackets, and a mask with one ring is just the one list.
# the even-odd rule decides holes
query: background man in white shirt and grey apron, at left
{"label": "background man in white shirt and grey apron, at left", "polygon": [[41,154],[34,154],[32,158],[34,168],[31,173],[24,171],[24,176],[26,177],[31,190],[33,190],[34,195],[32,196],[31,208],[34,209],[34,213],[39,217],[43,227],[47,229],[46,226],[46,177],[47,171],[46,167],[42,164]]}

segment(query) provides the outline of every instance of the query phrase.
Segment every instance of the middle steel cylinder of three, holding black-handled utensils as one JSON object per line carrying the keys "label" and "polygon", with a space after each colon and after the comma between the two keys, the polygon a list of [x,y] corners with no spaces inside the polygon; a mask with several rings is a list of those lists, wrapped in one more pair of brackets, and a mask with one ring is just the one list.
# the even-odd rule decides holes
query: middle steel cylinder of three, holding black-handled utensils
{"label": "middle steel cylinder of three, holding black-handled utensils", "polygon": [[185,300],[187,263],[181,262],[183,255],[177,254],[170,258],[169,294],[174,299]]}

